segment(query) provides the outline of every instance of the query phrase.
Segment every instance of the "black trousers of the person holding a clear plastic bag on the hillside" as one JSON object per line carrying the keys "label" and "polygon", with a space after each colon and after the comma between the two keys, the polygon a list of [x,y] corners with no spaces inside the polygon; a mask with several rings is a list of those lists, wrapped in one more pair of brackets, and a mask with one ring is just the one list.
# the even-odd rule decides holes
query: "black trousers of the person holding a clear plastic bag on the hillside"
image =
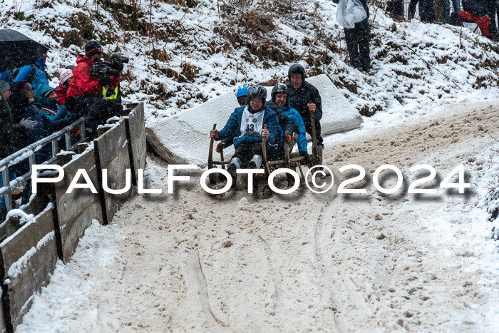
{"label": "black trousers of the person holding a clear plastic bag on the hillside", "polygon": [[346,48],[349,51],[351,66],[364,71],[371,69],[370,34],[369,22],[359,22],[355,24],[354,28],[345,29]]}

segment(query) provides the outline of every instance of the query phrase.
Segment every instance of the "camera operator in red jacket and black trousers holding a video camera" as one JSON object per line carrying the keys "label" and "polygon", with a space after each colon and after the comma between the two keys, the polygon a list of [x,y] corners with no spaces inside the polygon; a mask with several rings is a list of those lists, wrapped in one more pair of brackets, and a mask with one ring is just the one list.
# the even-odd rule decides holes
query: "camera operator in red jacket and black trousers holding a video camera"
{"label": "camera operator in red jacket and black trousers holding a video camera", "polygon": [[123,63],[113,61],[106,65],[103,48],[97,41],[88,41],[85,56],[78,55],[73,69],[73,80],[66,96],[68,111],[76,118],[86,116],[86,128],[95,131],[108,118],[122,116],[123,106],[119,99],[104,99],[103,89],[113,92],[118,87]]}

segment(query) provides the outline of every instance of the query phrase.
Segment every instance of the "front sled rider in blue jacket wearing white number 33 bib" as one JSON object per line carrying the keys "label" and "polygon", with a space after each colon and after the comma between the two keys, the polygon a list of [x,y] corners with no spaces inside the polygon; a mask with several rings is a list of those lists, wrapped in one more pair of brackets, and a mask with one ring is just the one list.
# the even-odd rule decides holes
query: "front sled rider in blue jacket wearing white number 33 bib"
{"label": "front sled rider in blue jacket wearing white number 33 bib", "polygon": [[[236,108],[222,130],[210,130],[210,138],[226,141],[232,139],[235,154],[227,171],[232,177],[232,186],[237,179],[236,170],[248,163],[247,168],[262,166],[262,138],[273,144],[279,130],[279,120],[274,111],[265,107],[267,90],[262,86],[251,86],[247,91],[247,105]],[[267,129],[264,125],[267,124]]]}

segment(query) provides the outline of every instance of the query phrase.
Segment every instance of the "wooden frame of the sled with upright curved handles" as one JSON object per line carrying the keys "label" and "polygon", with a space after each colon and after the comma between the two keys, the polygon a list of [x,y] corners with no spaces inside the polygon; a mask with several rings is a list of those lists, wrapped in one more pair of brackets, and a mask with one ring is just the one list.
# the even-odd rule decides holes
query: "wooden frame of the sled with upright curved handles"
{"label": "wooden frame of the sled with upright curved handles", "polygon": [[[310,113],[310,123],[312,124],[312,156],[310,158],[305,158],[299,153],[290,153],[293,147],[289,147],[289,143],[287,141],[284,142],[284,160],[268,160],[267,159],[267,140],[265,138],[262,139],[262,157],[263,163],[262,168],[265,170],[265,174],[267,177],[270,175],[270,167],[275,166],[276,168],[289,168],[292,170],[299,169],[300,174],[302,175],[302,179],[305,179],[305,175],[302,170],[302,165],[307,165],[308,168],[312,168],[314,165],[319,163],[319,156],[317,155],[317,137],[315,131],[315,121],[314,114]],[[213,124],[213,130],[217,128],[217,124]],[[264,124],[264,129],[267,129],[267,124]],[[288,131],[284,133],[284,135],[289,135]],[[220,165],[222,169],[225,169],[225,165],[230,164],[231,158],[225,160],[223,150],[220,150],[220,160],[213,160],[213,145],[215,143],[215,139],[210,139],[210,151],[208,152],[208,169],[217,168],[216,165]],[[210,175],[210,183],[215,185],[217,183],[217,177],[215,174]]]}

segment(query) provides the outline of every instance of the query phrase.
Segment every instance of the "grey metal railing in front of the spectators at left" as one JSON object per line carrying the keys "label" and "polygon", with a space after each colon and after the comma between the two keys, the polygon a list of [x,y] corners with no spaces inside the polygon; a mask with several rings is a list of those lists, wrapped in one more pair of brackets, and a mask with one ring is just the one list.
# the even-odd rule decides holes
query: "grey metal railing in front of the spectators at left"
{"label": "grey metal railing in front of the spectators at left", "polygon": [[[75,143],[71,143],[71,130],[73,130],[73,128],[77,128],[78,126],[80,127],[81,138]],[[80,118],[78,119],[78,121],[75,121],[71,125],[58,130],[56,133],[52,133],[46,138],[36,141],[36,143],[31,143],[31,145],[28,145],[27,147],[16,151],[16,153],[7,156],[3,160],[0,160],[0,172],[2,181],[4,183],[4,186],[0,188],[0,198],[2,195],[4,196],[7,211],[12,209],[12,190],[14,190],[16,186],[26,182],[31,178],[31,167],[36,164],[36,152],[50,143],[52,157],[48,160],[44,160],[41,164],[53,163],[57,159],[56,155],[58,153],[58,139],[62,136],[64,136],[64,140],[66,143],[66,150],[76,150],[76,146],[79,143],[83,143],[85,141],[85,119]],[[29,171],[24,175],[11,180],[9,175],[9,168],[11,168],[12,165],[19,164],[26,159],[29,161]]]}

